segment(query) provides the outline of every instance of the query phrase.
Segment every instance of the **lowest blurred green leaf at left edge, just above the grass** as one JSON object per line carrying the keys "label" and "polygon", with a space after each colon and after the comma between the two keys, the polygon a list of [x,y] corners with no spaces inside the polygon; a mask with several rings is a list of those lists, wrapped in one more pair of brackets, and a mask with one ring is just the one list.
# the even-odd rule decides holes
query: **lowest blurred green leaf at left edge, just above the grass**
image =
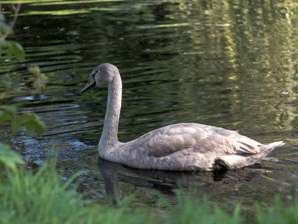
{"label": "lowest blurred green leaf at left edge, just above the grass", "polygon": [[23,163],[24,160],[17,154],[10,150],[8,145],[0,143],[0,161],[5,167],[16,171],[16,164]]}

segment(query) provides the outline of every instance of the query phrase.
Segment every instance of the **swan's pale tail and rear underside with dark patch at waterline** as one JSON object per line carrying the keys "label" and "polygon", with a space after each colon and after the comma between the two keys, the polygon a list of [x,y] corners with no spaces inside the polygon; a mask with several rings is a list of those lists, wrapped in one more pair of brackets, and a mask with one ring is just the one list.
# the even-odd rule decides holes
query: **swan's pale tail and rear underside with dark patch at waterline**
{"label": "swan's pale tail and rear underside with dark patch at waterline", "polygon": [[285,143],[283,141],[264,144],[260,146],[260,152],[256,154],[243,153],[219,156],[214,160],[213,169],[237,169],[255,164],[260,162],[275,148],[283,146],[284,144]]}

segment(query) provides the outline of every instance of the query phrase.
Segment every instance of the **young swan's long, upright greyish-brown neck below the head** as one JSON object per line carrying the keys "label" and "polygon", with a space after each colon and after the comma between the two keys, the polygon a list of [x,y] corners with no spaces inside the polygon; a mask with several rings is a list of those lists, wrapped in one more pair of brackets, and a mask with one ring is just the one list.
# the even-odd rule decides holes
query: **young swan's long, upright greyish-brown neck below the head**
{"label": "young swan's long, upright greyish-brown neck below the head", "polygon": [[99,140],[99,151],[113,150],[119,143],[117,138],[118,123],[121,109],[122,82],[120,74],[115,74],[108,85],[108,105],[104,119],[102,135]]}

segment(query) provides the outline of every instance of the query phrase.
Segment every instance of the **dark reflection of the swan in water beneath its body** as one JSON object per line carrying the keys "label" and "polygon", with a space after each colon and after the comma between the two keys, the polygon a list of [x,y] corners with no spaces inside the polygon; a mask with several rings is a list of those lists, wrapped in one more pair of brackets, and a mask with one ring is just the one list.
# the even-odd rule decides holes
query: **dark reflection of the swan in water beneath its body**
{"label": "dark reflection of the swan in water beneath its body", "polygon": [[119,180],[155,190],[164,197],[175,197],[173,190],[178,188],[182,188],[184,192],[199,191],[214,195],[238,191],[261,173],[268,172],[259,169],[259,164],[245,169],[213,172],[135,169],[100,157],[97,160],[97,167],[102,174],[106,194],[115,205],[120,205],[122,198]]}

